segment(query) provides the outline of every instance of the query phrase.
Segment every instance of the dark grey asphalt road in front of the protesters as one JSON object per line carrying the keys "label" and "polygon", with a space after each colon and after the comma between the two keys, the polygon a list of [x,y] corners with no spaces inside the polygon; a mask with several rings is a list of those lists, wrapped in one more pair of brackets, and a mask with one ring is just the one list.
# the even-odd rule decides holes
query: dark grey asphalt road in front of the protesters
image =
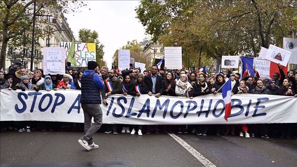
{"label": "dark grey asphalt road in front of the protesters", "polygon": [[[82,132],[0,133],[1,166],[204,166],[169,134],[96,133],[99,149],[78,143]],[[297,141],[176,134],[214,166],[297,166]]]}

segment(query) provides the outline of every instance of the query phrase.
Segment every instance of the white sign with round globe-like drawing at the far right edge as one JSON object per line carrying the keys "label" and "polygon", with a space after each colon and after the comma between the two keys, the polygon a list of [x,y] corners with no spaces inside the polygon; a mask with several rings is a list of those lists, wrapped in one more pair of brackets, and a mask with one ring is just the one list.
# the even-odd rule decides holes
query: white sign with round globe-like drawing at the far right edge
{"label": "white sign with round globe-like drawing at the far right edge", "polygon": [[284,38],[282,48],[288,50],[291,53],[289,63],[297,64],[297,38]]}

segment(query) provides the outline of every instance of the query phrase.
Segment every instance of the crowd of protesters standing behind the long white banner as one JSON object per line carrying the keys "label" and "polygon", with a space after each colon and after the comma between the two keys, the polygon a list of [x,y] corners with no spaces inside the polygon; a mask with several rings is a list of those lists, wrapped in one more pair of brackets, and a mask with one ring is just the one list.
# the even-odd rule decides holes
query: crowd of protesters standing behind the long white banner
{"label": "crowd of protesters standing behind the long white banner", "polygon": [[[34,71],[26,70],[24,66],[10,66],[7,73],[0,72],[1,89],[9,90],[46,90],[55,91],[59,89],[81,90],[81,78],[84,70],[77,67],[67,66],[64,75],[44,75],[42,69]],[[225,69],[227,71],[227,69]],[[211,93],[220,93],[219,90],[227,79],[231,79],[232,95],[249,94],[268,94],[279,96],[297,97],[297,70],[290,70],[285,75],[281,66],[279,73],[273,74],[273,79],[261,79],[258,72],[254,75],[247,69],[241,76],[238,71],[228,69],[227,73],[216,74],[213,71],[174,69],[159,70],[157,65],[151,66],[151,70],[141,71],[140,69],[118,70],[108,69],[103,66],[99,71],[105,88],[101,90],[102,103],[106,104],[106,95],[123,94],[131,96],[178,96],[194,98],[197,96]],[[255,77],[252,77],[255,76]],[[107,86],[111,83],[112,90]],[[219,90],[219,91],[217,91]],[[296,94],[295,94],[296,93]],[[286,112],[286,111],[283,111]],[[297,112],[296,112],[297,114]],[[18,130],[19,132],[30,132],[32,130],[45,131],[83,131],[82,123],[61,123],[43,121],[2,121],[1,131]],[[117,125],[108,124],[103,126],[105,133],[118,134],[130,133],[143,135],[143,133],[196,133],[206,136],[208,133],[219,135],[239,135],[242,137],[280,137],[282,139],[296,138],[296,123],[280,124],[244,124],[244,125]]]}

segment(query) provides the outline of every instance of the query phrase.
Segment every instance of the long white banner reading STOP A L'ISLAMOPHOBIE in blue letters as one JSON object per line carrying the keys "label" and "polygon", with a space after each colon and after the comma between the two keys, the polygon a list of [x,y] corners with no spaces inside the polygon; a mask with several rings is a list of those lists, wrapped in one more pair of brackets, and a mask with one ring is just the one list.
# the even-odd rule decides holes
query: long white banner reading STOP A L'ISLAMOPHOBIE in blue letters
{"label": "long white banner reading STOP A L'ISLAMOPHOBIE in blue letters", "polygon": [[[0,92],[1,121],[83,123],[80,90]],[[101,105],[103,123],[136,125],[297,123],[297,98],[275,95],[233,95],[231,115],[224,120],[222,94],[183,97],[111,95]]]}

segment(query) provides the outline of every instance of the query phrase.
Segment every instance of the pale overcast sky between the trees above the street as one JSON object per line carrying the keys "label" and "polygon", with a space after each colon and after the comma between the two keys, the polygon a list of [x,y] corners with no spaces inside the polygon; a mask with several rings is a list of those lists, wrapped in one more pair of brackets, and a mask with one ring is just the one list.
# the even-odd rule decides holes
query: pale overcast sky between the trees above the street
{"label": "pale overcast sky between the trees above the street", "polygon": [[144,27],[135,18],[134,9],[139,1],[87,1],[86,4],[82,12],[68,13],[65,17],[76,39],[80,28],[98,32],[99,42],[104,44],[104,60],[111,68],[112,56],[117,49],[127,41],[137,39],[141,42],[145,37]]}

